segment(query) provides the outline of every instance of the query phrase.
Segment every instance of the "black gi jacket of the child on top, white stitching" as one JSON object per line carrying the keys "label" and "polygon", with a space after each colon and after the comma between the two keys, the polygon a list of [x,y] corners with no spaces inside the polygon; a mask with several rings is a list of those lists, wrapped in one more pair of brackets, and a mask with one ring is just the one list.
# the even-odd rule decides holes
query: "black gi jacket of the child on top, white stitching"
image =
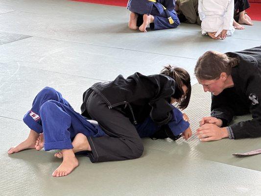
{"label": "black gi jacket of the child on top, white stitching", "polygon": [[[126,79],[119,75],[111,82],[95,83],[90,89],[104,99],[109,109],[121,107],[134,124],[142,123],[150,116],[154,122],[163,125],[172,118],[174,106],[170,100],[175,87],[174,79],[166,75],[134,73]],[[83,94],[81,106],[82,115],[86,117],[89,116],[86,110],[87,91]]]}

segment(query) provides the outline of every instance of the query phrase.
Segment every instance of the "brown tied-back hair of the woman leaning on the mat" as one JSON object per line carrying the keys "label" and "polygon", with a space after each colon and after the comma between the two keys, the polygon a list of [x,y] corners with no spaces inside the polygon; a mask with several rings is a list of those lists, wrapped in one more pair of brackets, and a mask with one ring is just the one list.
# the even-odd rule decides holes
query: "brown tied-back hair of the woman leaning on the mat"
{"label": "brown tied-back hair of the woman leaning on the mat", "polygon": [[210,50],[199,57],[194,74],[198,79],[218,79],[222,72],[230,75],[232,68],[237,66],[237,64],[238,58]]}

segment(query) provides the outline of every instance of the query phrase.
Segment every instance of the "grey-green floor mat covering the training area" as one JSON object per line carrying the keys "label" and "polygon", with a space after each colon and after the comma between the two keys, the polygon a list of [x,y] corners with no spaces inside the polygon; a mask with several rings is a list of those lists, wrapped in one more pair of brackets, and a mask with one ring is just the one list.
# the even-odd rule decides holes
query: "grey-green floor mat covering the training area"
{"label": "grey-green floor mat covering the training area", "polygon": [[[82,93],[97,81],[159,73],[172,64],[187,69],[196,84],[193,69],[203,52],[261,45],[257,21],[226,40],[211,40],[189,24],[139,33],[128,29],[128,16],[124,7],[71,0],[0,0],[0,196],[259,196],[261,155],[232,153],[261,148],[261,138],[144,139],[139,159],[93,164],[78,156],[79,167],[62,178],[51,176],[61,163],[55,151],[7,154],[27,137],[23,115],[45,86],[79,112]],[[209,108],[210,94],[193,85],[185,110],[193,132]]]}

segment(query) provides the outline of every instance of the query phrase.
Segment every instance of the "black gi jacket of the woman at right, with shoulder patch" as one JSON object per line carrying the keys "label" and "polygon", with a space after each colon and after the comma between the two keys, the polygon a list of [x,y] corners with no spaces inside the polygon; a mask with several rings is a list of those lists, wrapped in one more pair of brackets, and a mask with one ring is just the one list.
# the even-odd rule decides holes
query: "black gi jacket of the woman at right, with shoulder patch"
{"label": "black gi jacket of the woman at right, with shoulder patch", "polygon": [[231,73],[234,87],[212,95],[211,116],[227,126],[233,116],[251,113],[253,120],[230,125],[234,137],[261,137],[261,46],[226,54],[239,59]]}

